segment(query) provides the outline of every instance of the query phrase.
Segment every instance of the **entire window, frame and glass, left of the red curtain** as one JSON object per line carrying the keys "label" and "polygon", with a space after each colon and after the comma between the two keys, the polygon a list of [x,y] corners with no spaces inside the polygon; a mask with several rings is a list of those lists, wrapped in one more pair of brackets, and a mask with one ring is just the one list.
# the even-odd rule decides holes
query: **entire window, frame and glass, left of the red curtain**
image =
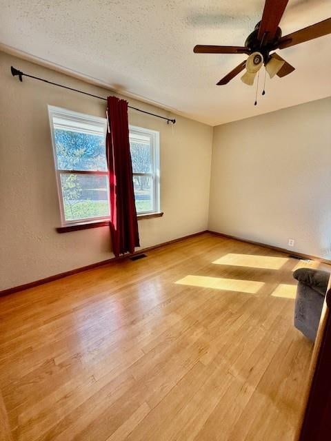
{"label": "entire window, frame and glass, left of the red curtain", "polygon": [[109,218],[106,119],[48,106],[62,225]]}

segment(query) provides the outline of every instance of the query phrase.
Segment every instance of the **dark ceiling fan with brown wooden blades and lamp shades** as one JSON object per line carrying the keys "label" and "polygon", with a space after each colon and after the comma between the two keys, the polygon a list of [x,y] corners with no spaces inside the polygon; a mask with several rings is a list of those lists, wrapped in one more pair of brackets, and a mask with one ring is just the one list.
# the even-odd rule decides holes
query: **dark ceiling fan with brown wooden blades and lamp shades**
{"label": "dark ceiling fan with brown wooden blades and lamp shades", "polygon": [[245,68],[246,72],[241,76],[241,81],[245,84],[253,85],[254,77],[263,64],[270,78],[276,74],[280,77],[288,75],[295,68],[281,58],[279,54],[270,52],[276,49],[289,48],[290,46],[331,34],[330,18],[282,37],[279,22],[287,4],[288,0],[265,0],[262,19],[248,36],[244,46],[196,45],[194,47],[193,51],[198,54],[249,55],[247,60],[237,65],[217,85],[228,84],[234,76],[237,76]]}

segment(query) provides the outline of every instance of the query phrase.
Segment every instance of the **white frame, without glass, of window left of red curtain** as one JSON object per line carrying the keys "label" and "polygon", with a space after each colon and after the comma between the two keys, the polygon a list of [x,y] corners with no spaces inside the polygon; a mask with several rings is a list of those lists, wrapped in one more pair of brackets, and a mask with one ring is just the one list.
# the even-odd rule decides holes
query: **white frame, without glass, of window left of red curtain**
{"label": "white frame, without glass, of window left of red curtain", "polygon": [[[54,161],[54,170],[57,176],[57,193],[59,199],[59,208],[61,214],[61,225],[62,227],[68,227],[70,225],[77,224],[89,224],[89,223],[98,223],[102,220],[110,219],[110,203],[109,203],[109,170],[108,165],[107,170],[105,171],[90,171],[90,170],[61,170],[58,168],[57,161],[57,147],[55,143],[55,134],[54,134],[54,116],[58,116],[59,118],[68,119],[77,123],[91,123],[92,125],[97,125],[102,127],[104,142],[105,142],[105,153],[106,153],[106,133],[107,133],[107,120],[105,118],[101,118],[100,116],[92,116],[88,114],[83,114],[80,112],[74,112],[73,110],[64,109],[63,107],[56,107],[53,105],[48,105],[48,116],[50,120],[50,133],[52,137],[52,151],[53,151],[53,161]],[[81,174],[81,175],[94,175],[94,176],[106,176],[107,177],[107,193],[108,193],[108,210],[109,214],[107,216],[94,216],[88,218],[78,218],[72,220],[66,220],[65,211],[64,211],[64,202],[63,202],[63,194],[61,187],[61,174]]]}

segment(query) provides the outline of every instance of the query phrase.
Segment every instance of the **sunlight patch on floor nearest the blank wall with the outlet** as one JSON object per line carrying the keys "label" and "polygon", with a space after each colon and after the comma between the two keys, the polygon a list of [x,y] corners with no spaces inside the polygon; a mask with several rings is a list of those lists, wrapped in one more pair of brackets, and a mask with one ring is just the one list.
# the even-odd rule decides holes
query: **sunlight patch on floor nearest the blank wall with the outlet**
{"label": "sunlight patch on floor nearest the blank wall with the outlet", "polygon": [[253,254],[225,254],[214,260],[217,265],[234,265],[237,267],[252,267],[263,269],[280,269],[288,258],[273,256],[254,256]]}

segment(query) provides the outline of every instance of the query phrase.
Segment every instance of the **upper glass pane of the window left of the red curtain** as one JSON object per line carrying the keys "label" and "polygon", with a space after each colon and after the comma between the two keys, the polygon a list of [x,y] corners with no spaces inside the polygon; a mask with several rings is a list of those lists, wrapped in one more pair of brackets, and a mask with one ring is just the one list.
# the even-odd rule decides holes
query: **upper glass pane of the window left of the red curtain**
{"label": "upper glass pane of the window left of the red curtain", "polygon": [[107,170],[103,132],[86,133],[79,132],[78,129],[59,129],[54,123],[54,139],[59,170]]}

